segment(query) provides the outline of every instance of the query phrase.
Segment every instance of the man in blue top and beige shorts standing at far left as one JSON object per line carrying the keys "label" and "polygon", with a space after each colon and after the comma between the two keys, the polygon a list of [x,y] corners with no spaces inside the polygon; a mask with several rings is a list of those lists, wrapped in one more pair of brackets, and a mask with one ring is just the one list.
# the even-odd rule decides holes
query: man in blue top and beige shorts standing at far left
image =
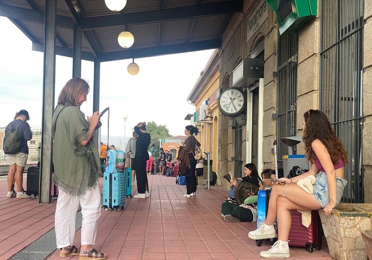
{"label": "man in blue top and beige shorts standing at far left", "polygon": [[[5,136],[3,149],[7,153],[8,163],[9,163],[9,172],[8,172],[8,193],[6,194],[7,198],[29,198],[30,196],[23,190],[23,172],[27,164],[28,158],[28,146],[27,141],[32,139],[32,132],[27,121],[29,120],[27,110],[20,110],[16,113],[14,120],[10,122],[5,128]],[[12,146],[15,143],[5,144],[5,138],[9,135],[13,129],[16,129],[15,132],[19,132],[20,145],[18,149],[8,153],[5,146]],[[13,141],[16,142],[16,141]],[[16,151],[16,152],[15,152]],[[14,191],[14,182],[17,184],[17,193]]]}

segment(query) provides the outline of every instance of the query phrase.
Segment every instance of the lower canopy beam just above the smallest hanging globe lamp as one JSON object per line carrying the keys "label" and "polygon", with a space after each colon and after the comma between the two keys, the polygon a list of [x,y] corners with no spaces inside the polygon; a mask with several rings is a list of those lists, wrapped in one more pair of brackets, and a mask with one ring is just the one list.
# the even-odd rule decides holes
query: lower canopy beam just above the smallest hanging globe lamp
{"label": "lower canopy beam just above the smallest hanging globe lamp", "polygon": [[187,51],[196,51],[203,49],[214,49],[220,48],[222,46],[222,39],[190,42],[186,44],[174,44],[165,45],[160,47],[149,47],[149,48],[139,48],[131,50],[113,51],[100,55],[101,62],[114,61],[114,60],[124,60],[124,59],[136,59],[144,57],[153,57],[165,54],[174,54]]}

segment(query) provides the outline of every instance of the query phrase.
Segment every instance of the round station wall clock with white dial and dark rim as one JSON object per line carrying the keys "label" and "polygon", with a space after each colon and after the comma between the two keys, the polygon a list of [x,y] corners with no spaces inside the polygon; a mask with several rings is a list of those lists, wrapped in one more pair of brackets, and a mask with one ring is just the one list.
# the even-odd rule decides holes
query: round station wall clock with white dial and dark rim
{"label": "round station wall clock with white dial and dark rim", "polygon": [[245,102],[246,98],[243,91],[236,88],[229,88],[219,96],[218,107],[222,114],[236,116],[243,112]]}

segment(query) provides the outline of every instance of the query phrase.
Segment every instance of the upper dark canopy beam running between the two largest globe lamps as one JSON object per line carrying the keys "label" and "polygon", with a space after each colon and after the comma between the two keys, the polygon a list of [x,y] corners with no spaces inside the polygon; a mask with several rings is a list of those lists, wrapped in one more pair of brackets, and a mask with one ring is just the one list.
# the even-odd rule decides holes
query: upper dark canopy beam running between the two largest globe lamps
{"label": "upper dark canopy beam running between the two largest globe lamps", "polygon": [[161,22],[192,17],[210,16],[215,14],[225,14],[230,12],[241,12],[242,9],[243,0],[232,0],[228,2],[85,18],[81,19],[81,28],[84,31],[123,24]]}

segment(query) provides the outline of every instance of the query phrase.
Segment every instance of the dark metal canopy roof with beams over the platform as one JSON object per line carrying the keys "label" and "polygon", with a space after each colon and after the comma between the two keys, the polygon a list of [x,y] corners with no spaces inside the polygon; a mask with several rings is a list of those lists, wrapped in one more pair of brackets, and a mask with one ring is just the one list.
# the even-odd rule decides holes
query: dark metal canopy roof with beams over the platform
{"label": "dark metal canopy roof with beams over the platform", "polygon": [[[243,9],[243,0],[128,0],[121,12],[105,0],[57,0],[56,54],[72,57],[74,26],[82,29],[84,60],[113,61],[219,48],[229,20]],[[8,17],[44,50],[45,0],[0,0],[0,15]],[[127,30],[134,44],[122,48],[117,37]]]}

